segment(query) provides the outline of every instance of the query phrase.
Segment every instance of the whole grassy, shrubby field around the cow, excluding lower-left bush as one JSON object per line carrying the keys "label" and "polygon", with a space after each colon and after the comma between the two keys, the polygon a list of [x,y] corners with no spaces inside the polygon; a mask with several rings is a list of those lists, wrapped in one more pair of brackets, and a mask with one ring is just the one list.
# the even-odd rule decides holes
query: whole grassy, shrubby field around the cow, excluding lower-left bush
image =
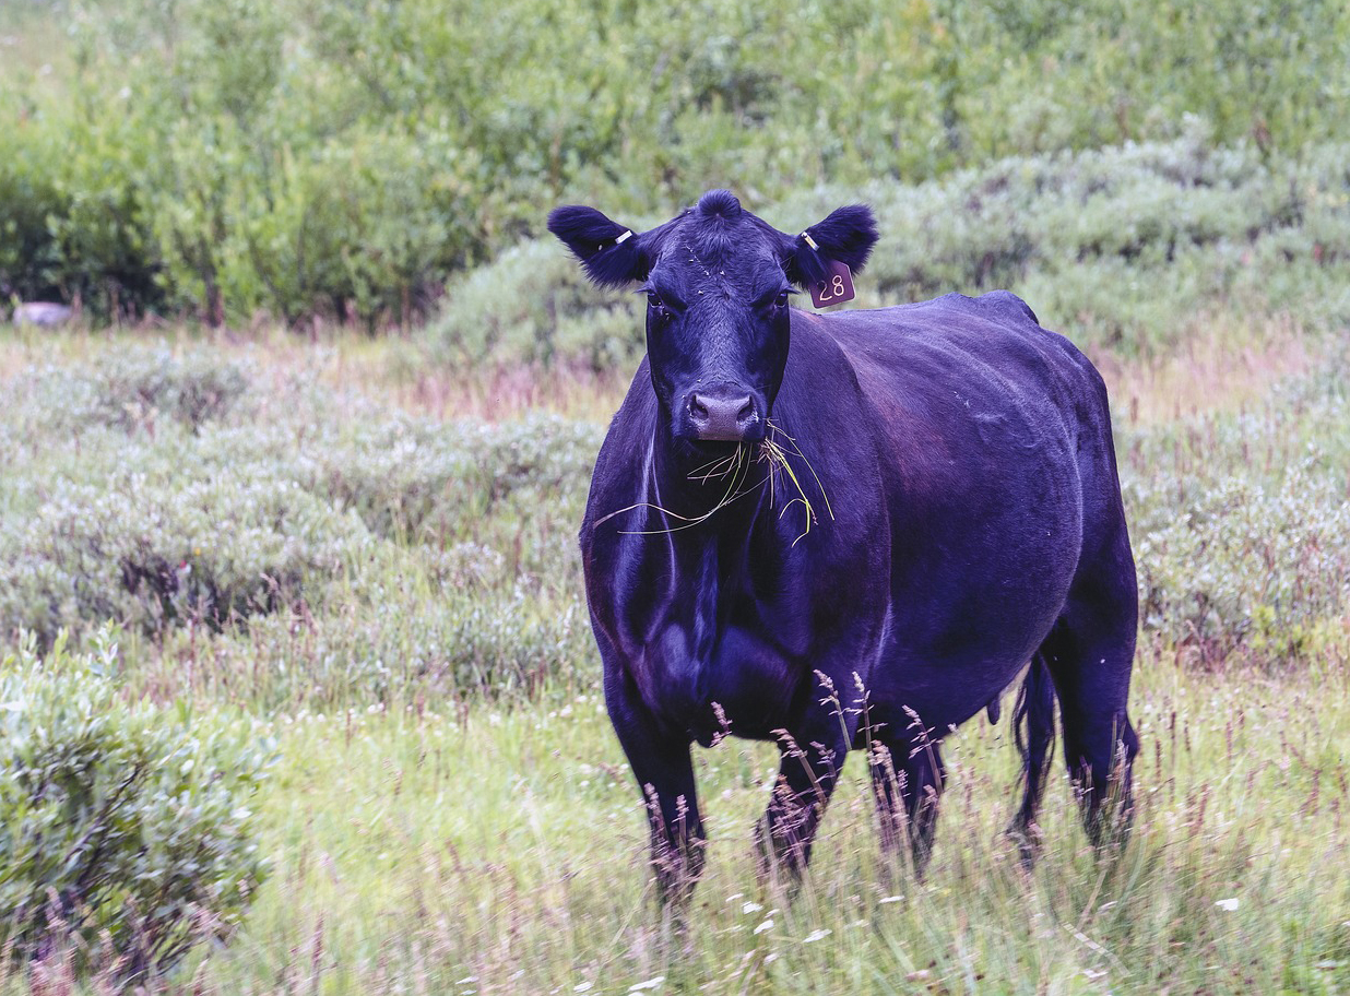
{"label": "whole grassy, shrubby field around the cow, excluding lower-left bush", "polygon": [[[1350,355],[1288,317],[1196,325],[1094,354],[1143,606],[1127,850],[1089,852],[1057,777],[1018,870],[1004,710],[949,741],[925,881],[880,866],[855,757],[790,896],[751,850],[775,750],[728,740],[697,750],[687,924],[652,902],[580,601],[618,374],[0,332],[5,667],[20,628],[81,653],[111,618],[124,696],[274,745],[252,908],[146,991],[1346,992]],[[92,953],[11,953],[0,992],[116,991]]]}

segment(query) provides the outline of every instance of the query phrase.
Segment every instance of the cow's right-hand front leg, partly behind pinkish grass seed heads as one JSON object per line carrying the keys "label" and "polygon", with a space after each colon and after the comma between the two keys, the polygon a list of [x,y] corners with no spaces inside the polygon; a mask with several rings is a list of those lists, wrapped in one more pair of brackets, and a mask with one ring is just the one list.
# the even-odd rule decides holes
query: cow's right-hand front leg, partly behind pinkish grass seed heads
{"label": "cow's right-hand front leg, partly behind pinkish grass seed heads", "polygon": [[842,702],[836,683],[817,675],[815,692],[801,721],[779,730],[783,761],[774,798],[757,827],[763,870],[775,862],[798,876],[811,858],[811,841],[829,804],[857,730],[859,709]]}

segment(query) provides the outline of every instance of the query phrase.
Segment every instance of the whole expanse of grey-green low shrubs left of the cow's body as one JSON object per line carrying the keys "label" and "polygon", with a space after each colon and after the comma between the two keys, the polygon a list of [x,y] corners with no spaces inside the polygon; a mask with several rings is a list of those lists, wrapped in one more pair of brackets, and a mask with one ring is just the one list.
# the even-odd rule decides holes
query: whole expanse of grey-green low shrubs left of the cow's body
{"label": "whole expanse of grey-green low shrubs left of the cow's body", "polygon": [[209,634],[198,673],[232,661],[271,703],[505,694],[589,659],[575,530],[601,426],[263,387],[161,347],[0,390],[0,638]]}

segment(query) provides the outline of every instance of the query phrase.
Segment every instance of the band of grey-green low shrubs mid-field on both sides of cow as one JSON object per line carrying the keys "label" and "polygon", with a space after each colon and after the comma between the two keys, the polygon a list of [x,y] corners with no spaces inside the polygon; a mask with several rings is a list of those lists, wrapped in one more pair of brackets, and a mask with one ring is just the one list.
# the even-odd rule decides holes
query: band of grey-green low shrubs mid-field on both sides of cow
{"label": "band of grey-green low shrubs mid-field on both sides of cow", "polygon": [[[1343,370],[1119,428],[1148,630],[1206,661],[1316,653],[1350,598]],[[9,634],[111,618],[166,660],[204,636],[193,680],[247,673],[274,704],[594,679],[574,534],[599,425],[392,413],[202,348],[36,370],[0,401]]]}

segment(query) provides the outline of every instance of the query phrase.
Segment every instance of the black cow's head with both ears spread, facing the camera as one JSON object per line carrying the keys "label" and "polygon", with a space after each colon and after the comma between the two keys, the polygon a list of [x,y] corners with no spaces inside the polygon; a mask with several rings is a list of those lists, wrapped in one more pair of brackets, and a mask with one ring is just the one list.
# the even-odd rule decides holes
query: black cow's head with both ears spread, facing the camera
{"label": "black cow's head with both ears spread, facing the camera", "polygon": [[648,232],[594,208],[556,208],[548,231],[601,286],[641,282],[652,386],[675,439],[764,439],[783,381],[788,296],[826,279],[830,260],[857,271],[876,242],[871,209],[840,208],[787,235],[726,190]]}

